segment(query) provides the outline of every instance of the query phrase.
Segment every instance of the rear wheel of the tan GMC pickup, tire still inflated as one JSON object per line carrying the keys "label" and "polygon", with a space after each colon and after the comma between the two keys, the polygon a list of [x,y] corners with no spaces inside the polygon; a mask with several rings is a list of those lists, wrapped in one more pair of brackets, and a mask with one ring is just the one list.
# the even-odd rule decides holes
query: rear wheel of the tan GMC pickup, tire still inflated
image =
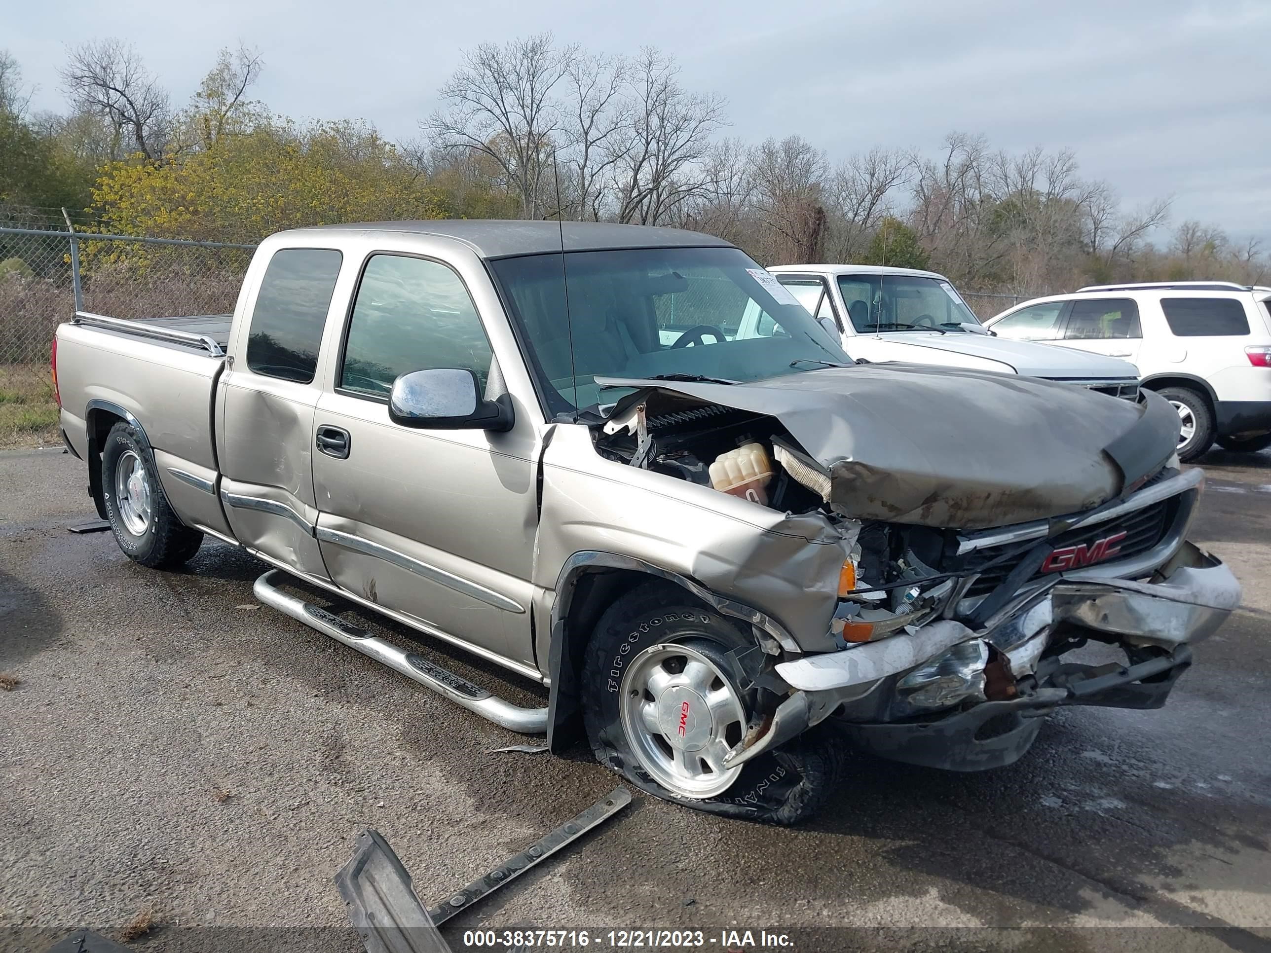
{"label": "rear wheel of the tan GMC pickup, tire still inflated", "polygon": [[[121,494],[121,482],[131,484],[137,501],[145,502]],[[203,534],[186,526],[168,506],[150,454],[131,424],[119,422],[107,435],[102,447],[102,493],[114,541],[132,562],[149,569],[174,569],[202,545]]]}

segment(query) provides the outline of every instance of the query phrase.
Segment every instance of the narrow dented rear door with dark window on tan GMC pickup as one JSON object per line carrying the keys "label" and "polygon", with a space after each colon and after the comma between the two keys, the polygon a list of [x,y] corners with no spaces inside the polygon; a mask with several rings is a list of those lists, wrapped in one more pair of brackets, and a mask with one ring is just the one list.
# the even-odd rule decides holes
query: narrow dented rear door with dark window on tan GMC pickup
{"label": "narrow dented rear door with dark window on tan GMC pickup", "polygon": [[313,535],[314,377],[342,262],[333,248],[273,253],[254,301],[244,302],[245,327],[235,328],[216,427],[221,503],[235,537],[320,578],[327,572]]}

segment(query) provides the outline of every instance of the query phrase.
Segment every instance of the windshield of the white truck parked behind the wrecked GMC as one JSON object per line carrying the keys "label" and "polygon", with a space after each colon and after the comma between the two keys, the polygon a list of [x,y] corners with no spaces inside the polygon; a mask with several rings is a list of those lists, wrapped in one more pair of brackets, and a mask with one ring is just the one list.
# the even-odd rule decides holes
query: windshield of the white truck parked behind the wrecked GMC
{"label": "windshield of the white truck parked behind the wrecked GMC", "polygon": [[839,290],[852,327],[876,330],[961,330],[979,324],[953,286],[918,274],[840,274]]}

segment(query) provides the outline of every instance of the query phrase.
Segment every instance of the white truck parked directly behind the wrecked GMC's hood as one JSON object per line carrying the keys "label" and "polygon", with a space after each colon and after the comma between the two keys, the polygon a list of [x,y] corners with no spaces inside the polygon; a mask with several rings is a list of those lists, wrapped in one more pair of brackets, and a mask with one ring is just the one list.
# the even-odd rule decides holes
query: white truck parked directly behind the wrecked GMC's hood
{"label": "white truck parked directly behind the wrecked GMC's hood", "polygon": [[970,367],[1077,384],[1132,400],[1139,371],[1077,348],[988,333],[943,274],[873,264],[769,268],[810,313],[841,337],[858,361]]}

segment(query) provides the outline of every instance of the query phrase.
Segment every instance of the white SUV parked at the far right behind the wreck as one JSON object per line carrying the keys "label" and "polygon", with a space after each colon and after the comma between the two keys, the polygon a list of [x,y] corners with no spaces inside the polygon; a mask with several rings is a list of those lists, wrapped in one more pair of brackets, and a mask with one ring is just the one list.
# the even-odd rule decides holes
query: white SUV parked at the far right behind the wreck
{"label": "white SUV parked at the far right behind the wreck", "polygon": [[1024,301],[985,324],[1003,338],[1134,361],[1182,421],[1178,456],[1271,446],[1271,288],[1223,281],[1098,285]]}

